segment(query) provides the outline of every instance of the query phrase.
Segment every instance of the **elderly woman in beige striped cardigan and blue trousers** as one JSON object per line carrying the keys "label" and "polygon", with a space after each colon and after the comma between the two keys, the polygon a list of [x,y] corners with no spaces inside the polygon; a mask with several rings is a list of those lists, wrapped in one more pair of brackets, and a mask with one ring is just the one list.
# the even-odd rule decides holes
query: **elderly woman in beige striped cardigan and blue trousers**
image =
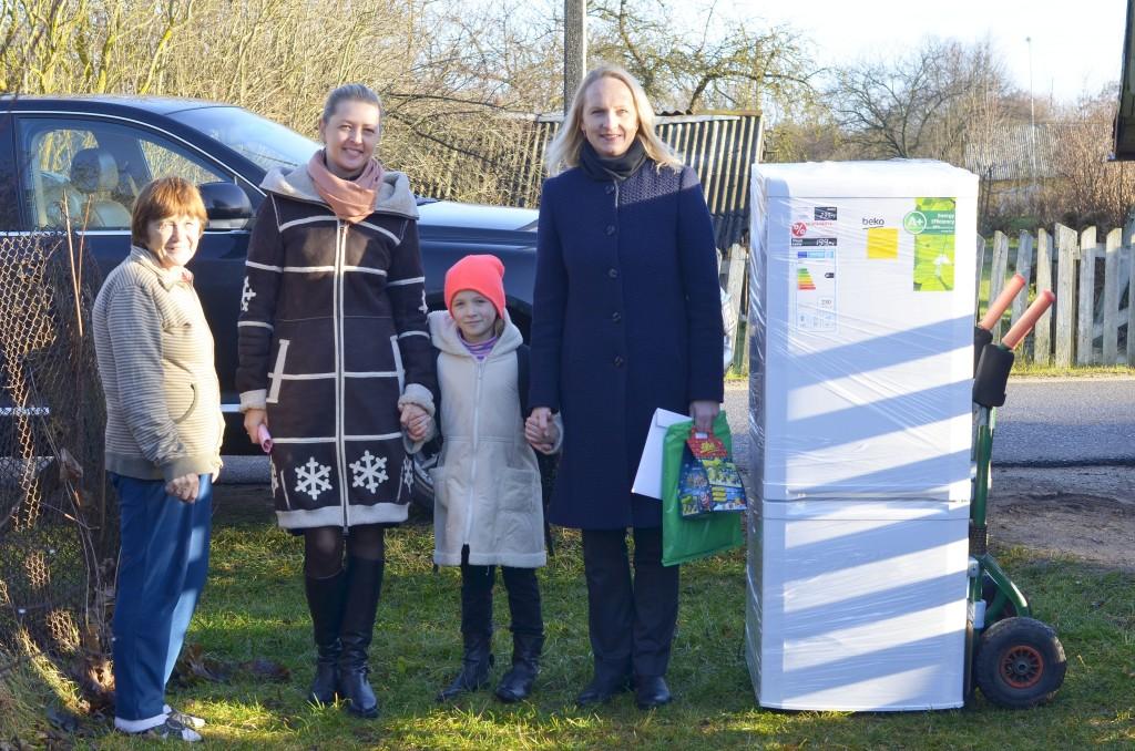
{"label": "elderly woman in beige striped cardigan and blue trousers", "polygon": [[212,335],[185,269],[205,221],[191,183],[146,185],[131,253],[107,277],[93,315],[106,463],[121,517],[115,727],[182,741],[200,741],[194,728],[204,722],[163,697],[209,568],[225,428]]}

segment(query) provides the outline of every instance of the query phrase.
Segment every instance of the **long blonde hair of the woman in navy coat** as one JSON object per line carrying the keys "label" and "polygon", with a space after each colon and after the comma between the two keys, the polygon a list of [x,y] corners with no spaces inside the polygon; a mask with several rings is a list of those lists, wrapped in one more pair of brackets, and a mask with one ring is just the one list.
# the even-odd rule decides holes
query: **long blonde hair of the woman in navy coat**
{"label": "long blonde hair of the woman in navy coat", "polygon": [[548,144],[545,154],[545,164],[548,175],[558,175],[579,164],[579,150],[583,147],[583,107],[587,104],[587,90],[600,78],[614,78],[621,81],[631,90],[631,98],[634,100],[634,109],[638,113],[639,129],[634,137],[642,143],[646,155],[658,164],[658,168],[669,167],[674,171],[682,168],[682,160],[667,146],[658,134],[654,132],[654,107],[647,99],[642,86],[634,76],[622,68],[613,65],[603,65],[587,74],[583,82],[575,90],[572,98],[571,108],[564,116],[563,125],[556,137]]}

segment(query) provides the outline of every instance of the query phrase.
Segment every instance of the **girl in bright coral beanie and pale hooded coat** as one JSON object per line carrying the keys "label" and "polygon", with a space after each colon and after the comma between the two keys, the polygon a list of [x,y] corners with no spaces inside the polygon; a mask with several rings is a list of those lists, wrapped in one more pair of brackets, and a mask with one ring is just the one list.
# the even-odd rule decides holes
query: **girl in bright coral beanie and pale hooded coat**
{"label": "girl in bright coral beanie and pale hooded coat", "polygon": [[[544,506],[536,454],[526,439],[528,346],[505,310],[504,264],[469,255],[445,276],[448,310],[429,315],[438,351],[443,436],[432,471],[434,562],[461,566],[461,673],[438,694],[447,701],[488,684],[493,665],[493,584],[501,566],[512,615],[512,669],[496,695],[527,698],[544,647],[536,568],[546,563]],[[422,419],[422,422],[429,421]],[[434,425],[429,425],[432,428]],[[409,424],[411,437],[419,424]],[[427,430],[427,432],[429,432]],[[535,445],[558,449],[557,427]]]}

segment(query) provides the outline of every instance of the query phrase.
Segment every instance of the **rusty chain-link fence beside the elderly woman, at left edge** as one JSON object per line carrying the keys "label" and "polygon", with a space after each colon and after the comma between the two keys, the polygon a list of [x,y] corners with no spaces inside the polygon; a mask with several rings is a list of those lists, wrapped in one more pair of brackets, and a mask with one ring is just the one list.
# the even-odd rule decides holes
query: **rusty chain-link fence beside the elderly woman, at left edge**
{"label": "rusty chain-link fence beside the elderly woman, at left edge", "polygon": [[77,235],[0,236],[0,676],[109,645],[117,505]]}

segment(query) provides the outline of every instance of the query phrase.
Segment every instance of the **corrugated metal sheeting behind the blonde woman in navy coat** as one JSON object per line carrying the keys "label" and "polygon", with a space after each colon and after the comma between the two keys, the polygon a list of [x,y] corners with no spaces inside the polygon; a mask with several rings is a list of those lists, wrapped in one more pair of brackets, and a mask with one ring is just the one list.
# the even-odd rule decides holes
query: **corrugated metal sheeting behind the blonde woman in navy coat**
{"label": "corrugated metal sheeting behind the blonde woman in navy coat", "polygon": [[[562,115],[513,116],[527,120],[508,146],[487,142],[454,150],[451,171],[468,170],[470,160],[481,172],[495,174],[510,205],[539,204],[544,152],[563,121]],[[658,136],[693,168],[713,216],[717,247],[740,243],[749,226],[749,174],[760,157],[760,116],[756,113],[676,115],[655,119]],[[499,143],[499,142],[498,142]],[[439,144],[445,147],[445,144]],[[453,175],[415,176],[423,194],[452,199]]]}

